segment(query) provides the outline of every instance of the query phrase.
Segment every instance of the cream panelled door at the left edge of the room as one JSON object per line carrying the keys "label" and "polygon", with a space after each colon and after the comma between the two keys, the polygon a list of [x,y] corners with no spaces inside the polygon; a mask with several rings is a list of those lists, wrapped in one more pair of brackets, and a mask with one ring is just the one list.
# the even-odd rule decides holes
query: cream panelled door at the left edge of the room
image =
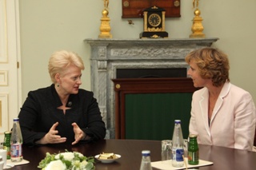
{"label": "cream panelled door at the left edge of the room", "polygon": [[21,103],[18,0],[0,0],[0,141]]}

